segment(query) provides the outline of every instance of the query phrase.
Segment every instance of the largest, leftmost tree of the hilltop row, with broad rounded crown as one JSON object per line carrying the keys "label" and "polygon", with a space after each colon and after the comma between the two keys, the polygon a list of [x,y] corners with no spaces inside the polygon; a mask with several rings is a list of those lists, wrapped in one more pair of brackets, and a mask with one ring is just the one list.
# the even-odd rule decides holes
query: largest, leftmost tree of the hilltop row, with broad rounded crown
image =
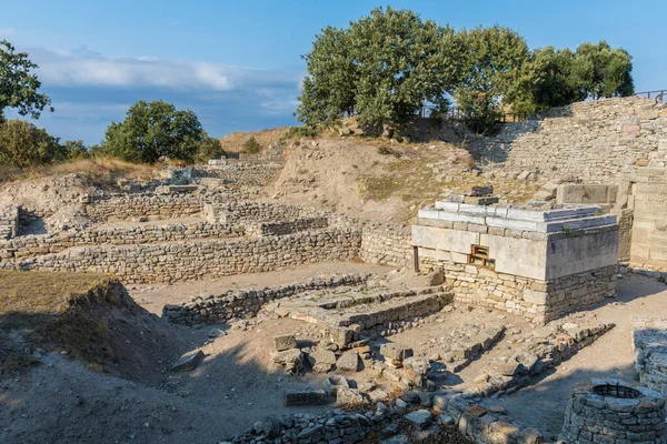
{"label": "largest, leftmost tree of the hilltop row, with broad rounded crown", "polygon": [[424,103],[442,114],[462,69],[461,39],[409,10],[378,8],[346,29],[327,28],[306,54],[297,109],[307,125],[359,115],[367,129],[400,127]]}

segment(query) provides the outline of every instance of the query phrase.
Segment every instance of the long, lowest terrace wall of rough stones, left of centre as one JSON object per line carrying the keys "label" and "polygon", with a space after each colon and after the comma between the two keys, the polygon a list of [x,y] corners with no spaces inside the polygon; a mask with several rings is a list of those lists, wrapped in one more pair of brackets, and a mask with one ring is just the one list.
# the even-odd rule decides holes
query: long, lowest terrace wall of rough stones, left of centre
{"label": "long, lowest terrace wall of rough stones, left of centre", "polygon": [[198,280],[259,273],[359,255],[361,233],[351,229],[307,231],[286,236],[187,241],[131,246],[79,246],[3,268],[90,271],[117,275],[123,283]]}

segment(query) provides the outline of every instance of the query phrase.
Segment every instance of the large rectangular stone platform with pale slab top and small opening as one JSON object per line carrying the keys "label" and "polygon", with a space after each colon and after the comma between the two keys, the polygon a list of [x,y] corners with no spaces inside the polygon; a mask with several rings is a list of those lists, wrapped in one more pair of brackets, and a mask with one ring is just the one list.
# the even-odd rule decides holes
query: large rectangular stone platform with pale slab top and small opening
{"label": "large rectangular stone platform with pale slab top and small opening", "polygon": [[411,231],[416,263],[442,268],[461,303],[545,323],[615,294],[618,224],[599,206],[439,201],[419,211]]}

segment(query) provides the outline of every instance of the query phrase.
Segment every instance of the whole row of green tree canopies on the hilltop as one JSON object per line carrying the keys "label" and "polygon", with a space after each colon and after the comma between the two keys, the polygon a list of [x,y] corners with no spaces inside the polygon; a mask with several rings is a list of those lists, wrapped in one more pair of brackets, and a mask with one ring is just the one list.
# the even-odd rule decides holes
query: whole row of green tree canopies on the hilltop
{"label": "whole row of green tree canopies on the hilltop", "polygon": [[424,104],[442,115],[454,98],[464,122],[488,132],[501,112],[634,93],[631,57],[604,41],[530,50],[509,28],[456,32],[391,8],[323,29],[303,60],[296,115],[311,128],[345,115],[367,129],[400,127]]}

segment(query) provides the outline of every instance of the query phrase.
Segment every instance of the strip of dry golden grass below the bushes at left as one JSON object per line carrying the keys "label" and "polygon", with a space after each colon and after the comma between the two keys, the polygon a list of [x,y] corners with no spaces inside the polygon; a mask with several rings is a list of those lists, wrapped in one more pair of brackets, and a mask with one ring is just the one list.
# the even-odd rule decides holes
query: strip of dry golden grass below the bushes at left
{"label": "strip of dry golden grass below the bushes at left", "polygon": [[129,163],[112,158],[81,159],[28,170],[0,167],[0,183],[80,173],[83,174],[91,184],[103,185],[108,183],[113,175],[123,175],[135,180],[149,179],[153,176],[156,171],[161,167],[162,165],[160,164],[148,165]]}

